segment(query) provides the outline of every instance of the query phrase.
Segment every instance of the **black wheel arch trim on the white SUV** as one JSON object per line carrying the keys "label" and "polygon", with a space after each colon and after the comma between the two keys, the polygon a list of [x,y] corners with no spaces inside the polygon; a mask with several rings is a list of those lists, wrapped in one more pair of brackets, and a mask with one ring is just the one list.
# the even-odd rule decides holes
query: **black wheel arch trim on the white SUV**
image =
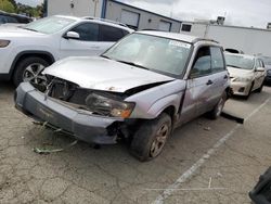
{"label": "black wheel arch trim on the white SUV", "polygon": [[10,73],[9,73],[9,80],[13,77],[14,71],[17,66],[17,63],[21,62],[24,59],[27,59],[29,56],[37,56],[37,58],[41,58],[43,60],[46,60],[47,62],[49,62],[49,64],[53,64],[55,62],[55,59],[53,56],[53,54],[51,54],[50,52],[47,51],[34,51],[34,50],[29,50],[29,51],[23,51],[20,52],[14,61],[12,62],[11,68],[10,68]]}

